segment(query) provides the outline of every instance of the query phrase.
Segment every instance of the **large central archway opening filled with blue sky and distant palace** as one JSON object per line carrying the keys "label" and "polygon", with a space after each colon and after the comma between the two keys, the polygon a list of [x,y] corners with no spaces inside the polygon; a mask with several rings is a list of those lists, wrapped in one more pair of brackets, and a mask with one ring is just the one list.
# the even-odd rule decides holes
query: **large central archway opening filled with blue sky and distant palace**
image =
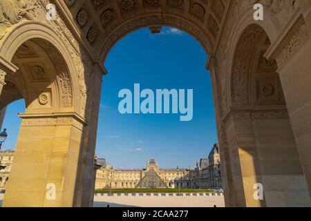
{"label": "large central archway opening filled with blue sky and distant palace", "polygon": [[[211,156],[210,164],[207,159],[217,135],[206,61],[198,41],[176,28],[162,28],[158,34],[144,28],[118,41],[105,62],[109,74],[103,78],[96,148],[97,162],[103,164],[97,170],[96,192],[151,187],[221,189],[220,168],[211,169],[219,164],[219,158],[217,162]],[[144,89],[155,93],[154,111],[120,112],[124,99],[118,96],[120,91],[131,90],[135,96],[137,84],[138,93]],[[156,90],[165,88],[185,89],[186,95],[187,89],[193,90],[193,116],[189,121],[180,121],[172,107],[167,114],[157,114]],[[140,107],[145,98],[140,97]],[[134,98],[131,106],[135,106]],[[155,158],[156,162],[150,160]],[[199,163],[200,158],[204,159]],[[148,180],[151,175],[160,178]]]}

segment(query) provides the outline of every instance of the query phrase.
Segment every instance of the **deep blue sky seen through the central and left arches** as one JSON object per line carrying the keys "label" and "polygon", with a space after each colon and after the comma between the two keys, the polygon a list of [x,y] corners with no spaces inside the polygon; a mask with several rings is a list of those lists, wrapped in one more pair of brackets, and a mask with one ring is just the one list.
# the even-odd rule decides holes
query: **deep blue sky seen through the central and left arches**
{"label": "deep blue sky seen through the central and left arches", "polygon": [[[104,64],[96,153],[115,168],[144,168],[154,158],[161,167],[187,168],[207,157],[217,142],[211,79],[205,70],[207,55],[185,32],[163,28],[151,35],[145,28],[127,35],[109,52]],[[133,90],[194,89],[194,117],[180,115],[122,115],[118,111],[123,88]],[[4,127],[9,137],[3,148],[15,148],[23,101],[10,104]]]}

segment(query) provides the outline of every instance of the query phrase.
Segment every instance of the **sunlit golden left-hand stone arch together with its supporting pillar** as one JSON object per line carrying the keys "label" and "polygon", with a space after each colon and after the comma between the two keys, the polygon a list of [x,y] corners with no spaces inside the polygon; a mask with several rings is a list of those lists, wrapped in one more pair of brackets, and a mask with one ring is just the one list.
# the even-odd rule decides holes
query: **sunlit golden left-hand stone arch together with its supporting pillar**
{"label": "sunlit golden left-hand stone arch together with its supporting pillar", "polygon": [[[79,151],[84,147],[87,125],[86,95],[82,92],[88,70],[84,69],[84,54],[79,50],[57,28],[37,21],[18,23],[1,41],[1,58],[17,71],[8,72],[4,79],[9,83],[5,87],[12,86],[16,97],[3,90],[1,97],[10,99],[0,105],[6,106],[21,97],[26,101],[26,113],[19,115],[22,122],[3,206],[15,202],[18,182],[24,182],[21,191],[32,190],[35,198],[40,198],[34,206],[80,203],[75,180],[79,177],[73,175],[79,175],[82,164]],[[38,165],[44,170],[38,171]],[[23,171],[26,167],[28,170]],[[41,177],[41,182],[33,184],[34,175]],[[56,201],[46,198],[49,183],[58,190]],[[19,206],[27,203],[19,202]]]}

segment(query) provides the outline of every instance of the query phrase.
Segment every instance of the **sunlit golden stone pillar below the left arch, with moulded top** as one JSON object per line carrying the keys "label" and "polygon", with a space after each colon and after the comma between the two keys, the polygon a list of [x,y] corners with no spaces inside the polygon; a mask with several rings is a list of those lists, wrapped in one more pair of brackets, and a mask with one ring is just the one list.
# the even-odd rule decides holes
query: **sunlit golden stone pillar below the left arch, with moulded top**
{"label": "sunlit golden stone pillar below the left arch, with moulded top", "polygon": [[3,206],[74,206],[84,119],[76,113],[20,117]]}

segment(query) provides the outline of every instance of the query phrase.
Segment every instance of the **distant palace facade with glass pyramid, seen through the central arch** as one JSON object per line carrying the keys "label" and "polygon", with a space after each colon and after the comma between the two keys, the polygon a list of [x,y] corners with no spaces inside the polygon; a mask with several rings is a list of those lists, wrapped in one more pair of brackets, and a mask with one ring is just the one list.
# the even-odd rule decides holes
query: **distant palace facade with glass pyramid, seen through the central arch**
{"label": "distant palace facade with glass pyramid, seen through the central arch", "polygon": [[156,160],[149,160],[145,169],[114,169],[104,158],[98,158],[97,164],[101,168],[96,172],[95,189],[222,189],[217,144],[214,144],[208,158],[197,163],[196,169],[161,169]]}

